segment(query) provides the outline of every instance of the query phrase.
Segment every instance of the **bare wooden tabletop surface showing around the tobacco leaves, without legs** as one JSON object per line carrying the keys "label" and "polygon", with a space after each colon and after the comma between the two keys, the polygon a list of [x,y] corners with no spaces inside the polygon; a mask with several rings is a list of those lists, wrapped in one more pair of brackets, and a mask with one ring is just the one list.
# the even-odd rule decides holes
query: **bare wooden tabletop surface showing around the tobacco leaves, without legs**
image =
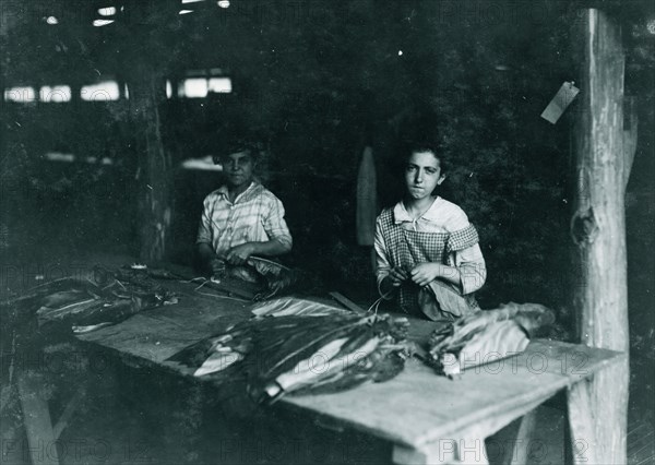
{"label": "bare wooden tabletop surface showing around the tobacco leaves, without legs", "polygon": [[[243,302],[226,300],[217,305],[211,299],[188,296],[177,306],[140,313],[80,338],[189,374],[182,367],[164,360],[249,315]],[[421,329],[415,337],[428,337],[429,331],[422,331],[428,327],[427,322],[412,326]],[[525,354],[467,370],[458,380],[438,377],[422,363],[408,360],[405,370],[385,383],[370,383],[338,394],[287,397],[283,403],[397,444],[420,448],[439,438],[460,434],[476,422],[501,428],[616,357],[611,350],[536,341]]]}

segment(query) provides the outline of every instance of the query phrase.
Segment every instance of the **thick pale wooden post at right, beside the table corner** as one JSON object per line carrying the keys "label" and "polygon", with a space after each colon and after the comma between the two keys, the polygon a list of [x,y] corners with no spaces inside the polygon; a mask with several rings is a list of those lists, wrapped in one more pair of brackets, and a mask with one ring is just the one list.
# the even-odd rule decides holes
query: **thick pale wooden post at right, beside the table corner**
{"label": "thick pale wooden post at right, beside the table corner", "polygon": [[[577,189],[571,219],[579,279],[573,303],[583,344],[628,354],[624,193],[631,159],[624,140],[631,136],[623,134],[621,29],[595,9],[584,10],[582,17],[582,31],[575,34],[583,48],[583,69],[575,128]],[[628,383],[626,357],[570,390],[575,462],[626,463]]]}

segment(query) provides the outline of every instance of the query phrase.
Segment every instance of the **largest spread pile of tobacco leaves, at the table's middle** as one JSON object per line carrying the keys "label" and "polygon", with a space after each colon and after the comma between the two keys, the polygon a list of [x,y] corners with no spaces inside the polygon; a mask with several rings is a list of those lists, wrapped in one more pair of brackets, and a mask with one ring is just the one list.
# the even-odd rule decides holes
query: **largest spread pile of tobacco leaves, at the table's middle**
{"label": "largest spread pile of tobacco leaves, at the table's middle", "polygon": [[196,377],[230,367],[246,378],[248,394],[259,403],[381,382],[403,370],[413,351],[407,319],[317,310],[290,314],[287,308],[282,315],[254,317],[170,360],[196,368]]}

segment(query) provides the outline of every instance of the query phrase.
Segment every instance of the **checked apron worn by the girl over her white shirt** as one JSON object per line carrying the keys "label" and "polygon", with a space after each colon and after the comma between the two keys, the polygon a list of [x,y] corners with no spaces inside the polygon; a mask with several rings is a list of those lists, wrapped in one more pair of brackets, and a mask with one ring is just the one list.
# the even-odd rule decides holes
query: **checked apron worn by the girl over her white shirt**
{"label": "checked apron worn by the girl over her white shirt", "polygon": [[[392,208],[385,208],[380,218],[390,265],[406,271],[425,262],[453,266],[454,263],[448,260],[450,253],[467,249],[479,240],[473,225],[453,233],[421,233],[396,225]],[[441,279],[422,288],[406,281],[401,285],[397,298],[405,312],[424,313],[431,320],[453,320],[479,309],[473,295],[463,296],[458,286]]]}

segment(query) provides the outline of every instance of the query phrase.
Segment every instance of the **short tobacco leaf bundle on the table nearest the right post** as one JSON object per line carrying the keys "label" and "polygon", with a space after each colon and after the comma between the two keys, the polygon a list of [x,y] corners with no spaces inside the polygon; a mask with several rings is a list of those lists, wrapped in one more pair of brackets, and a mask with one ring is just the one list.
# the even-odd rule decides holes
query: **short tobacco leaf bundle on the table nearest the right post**
{"label": "short tobacco leaf bundle on the table nearest the right post", "polygon": [[428,362],[438,373],[453,377],[466,368],[522,353],[529,337],[553,322],[555,313],[538,303],[510,302],[481,310],[434,331]]}

